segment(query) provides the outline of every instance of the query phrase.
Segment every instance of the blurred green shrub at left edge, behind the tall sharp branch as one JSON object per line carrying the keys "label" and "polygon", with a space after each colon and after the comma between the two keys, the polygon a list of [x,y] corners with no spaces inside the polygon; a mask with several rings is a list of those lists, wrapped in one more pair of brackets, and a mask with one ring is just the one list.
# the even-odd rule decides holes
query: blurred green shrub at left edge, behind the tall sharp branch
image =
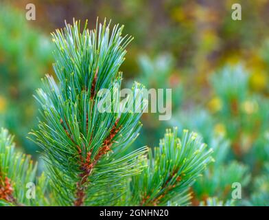
{"label": "blurred green shrub at left edge, behind the tall sharp branch", "polygon": [[30,27],[24,14],[1,4],[0,8],[0,118],[17,142],[33,153],[27,133],[36,124],[38,107],[33,98],[40,78],[51,67],[51,44]]}

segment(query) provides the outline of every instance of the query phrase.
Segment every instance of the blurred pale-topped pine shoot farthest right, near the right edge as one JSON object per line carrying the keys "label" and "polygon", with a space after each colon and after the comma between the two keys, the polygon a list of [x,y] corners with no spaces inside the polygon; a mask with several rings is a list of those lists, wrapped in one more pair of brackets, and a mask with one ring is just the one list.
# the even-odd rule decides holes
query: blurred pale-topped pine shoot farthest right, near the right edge
{"label": "blurred pale-topped pine shoot farthest right, near the right edge", "polygon": [[221,107],[211,106],[210,110],[223,124],[235,155],[244,157],[269,129],[269,104],[263,96],[251,92],[248,72],[241,65],[227,66],[213,74],[211,87]]}

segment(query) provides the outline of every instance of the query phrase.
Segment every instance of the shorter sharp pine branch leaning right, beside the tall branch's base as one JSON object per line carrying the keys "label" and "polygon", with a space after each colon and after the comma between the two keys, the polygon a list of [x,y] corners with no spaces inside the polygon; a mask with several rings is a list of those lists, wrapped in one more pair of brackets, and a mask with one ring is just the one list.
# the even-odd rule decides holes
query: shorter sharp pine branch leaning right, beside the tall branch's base
{"label": "shorter sharp pine branch leaning right, beside the tall branch's base", "polygon": [[167,130],[160,146],[150,151],[141,175],[132,177],[130,203],[139,206],[183,206],[190,199],[189,187],[211,162],[211,149],[195,133]]}

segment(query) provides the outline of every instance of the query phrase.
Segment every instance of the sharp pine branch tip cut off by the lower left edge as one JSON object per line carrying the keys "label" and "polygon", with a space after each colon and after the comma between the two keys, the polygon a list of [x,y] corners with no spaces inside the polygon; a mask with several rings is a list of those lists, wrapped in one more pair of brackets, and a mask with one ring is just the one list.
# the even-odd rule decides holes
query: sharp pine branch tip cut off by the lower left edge
{"label": "sharp pine branch tip cut off by the lower left edge", "polygon": [[[10,206],[45,205],[45,176],[36,178],[36,167],[30,156],[17,151],[13,137],[0,130],[0,201]],[[27,184],[36,184],[36,198],[27,198]]]}

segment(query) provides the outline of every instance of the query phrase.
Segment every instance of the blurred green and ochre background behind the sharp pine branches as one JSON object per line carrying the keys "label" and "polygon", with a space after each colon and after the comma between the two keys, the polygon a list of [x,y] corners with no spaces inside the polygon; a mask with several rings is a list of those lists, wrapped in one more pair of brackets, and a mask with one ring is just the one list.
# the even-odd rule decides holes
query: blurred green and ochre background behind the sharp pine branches
{"label": "blurred green and ochre background behind the sharp pine branches", "polygon": [[[34,3],[36,21],[25,19]],[[231,19],[233,3],[242,21]],[[231,199],[269,204],[269,1],[267,0],[32,0],[0,1],[0,125],[38,159],[27,133],[37,124],[33,98],[40,78],[54,74],[50,33],[65,20],[111,19],[134,36],[121,67],[126,85],[172,88],[172,119],[143,115],[133,147],[156,146],[168,127],[196,131],[215,150],[215,163],[192,188],[193,204]]]}

